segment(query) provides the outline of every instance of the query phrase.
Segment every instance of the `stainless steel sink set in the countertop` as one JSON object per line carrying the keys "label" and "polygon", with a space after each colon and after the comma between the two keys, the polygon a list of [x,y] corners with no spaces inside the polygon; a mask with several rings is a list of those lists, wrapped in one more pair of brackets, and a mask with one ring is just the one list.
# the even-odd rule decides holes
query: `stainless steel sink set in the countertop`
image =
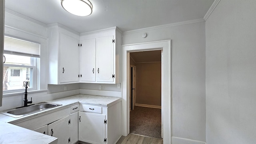
{"label": "stainless steel sink set in the countertop", "polygon": [[55,108],[57,106],[61,106],[61,104],[42,102],[42,103],[27,106],[27,107],[14,108],[1,113],[6,114],[8,116],[12,116],[14,118],[18,118],[18,117],[26,116],[28,114],[33,114],[43,110],[48,110],[50,108]]}

